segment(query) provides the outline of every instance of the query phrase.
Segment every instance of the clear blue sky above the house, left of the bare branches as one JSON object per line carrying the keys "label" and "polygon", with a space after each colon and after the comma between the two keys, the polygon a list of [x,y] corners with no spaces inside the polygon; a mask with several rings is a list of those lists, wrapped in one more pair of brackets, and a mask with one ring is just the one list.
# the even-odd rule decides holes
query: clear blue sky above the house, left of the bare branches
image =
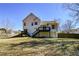
{"label": "clear blue sky above the house, left of the bare branches", "polygon": [[5,23],[10,24],[14,30],[22,30],[23,19],[29,14],[34,13],[42,21],[52,21],[57,19],[63,24],[70,18],[69,13],[58,3],[0,3],[0,28]]}

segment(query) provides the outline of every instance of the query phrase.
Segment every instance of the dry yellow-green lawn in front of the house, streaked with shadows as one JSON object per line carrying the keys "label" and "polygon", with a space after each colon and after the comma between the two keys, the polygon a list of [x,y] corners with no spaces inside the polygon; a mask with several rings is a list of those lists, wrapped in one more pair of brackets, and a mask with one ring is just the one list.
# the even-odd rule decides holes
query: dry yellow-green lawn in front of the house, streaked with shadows
{"label": "dry yellow-green lawn in front of the house, streaked with shadows", "polygon": [[0,39],[1,56],[79,55],[79,39],[20,37]]}

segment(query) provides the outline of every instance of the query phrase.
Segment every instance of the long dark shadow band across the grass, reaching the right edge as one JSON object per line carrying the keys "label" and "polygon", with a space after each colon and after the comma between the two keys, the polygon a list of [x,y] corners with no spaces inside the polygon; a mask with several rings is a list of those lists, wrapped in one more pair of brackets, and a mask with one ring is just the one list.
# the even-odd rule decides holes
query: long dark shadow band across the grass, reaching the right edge
{"label": "long dark shadow band across the grass, reaching the right edge", "polygon": [[43,46],[43,45],[54,45],[54,44],[61,44],[64,45],[64,44],[79,44],[79,42],[74,42],[74,41],[71,41],[71,42],[57,42],[57,41],[52,41],[52,40],[32,40],[32,41],[29,41],[29,42],[21,42],[21,43],[18,43],[18,44],[11,44],[11,47],[35,47],[35,46]]}

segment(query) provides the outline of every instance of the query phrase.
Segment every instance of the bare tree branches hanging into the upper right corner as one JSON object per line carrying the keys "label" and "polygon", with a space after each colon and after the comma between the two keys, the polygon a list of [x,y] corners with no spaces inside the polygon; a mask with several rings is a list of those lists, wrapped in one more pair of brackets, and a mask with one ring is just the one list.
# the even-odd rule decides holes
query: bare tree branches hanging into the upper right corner
{"label": "bare tree branches hanging into the upper right corner", "polygon": [[76,27],[79,22],[79,3],[66,4],[66,8],[71,12],[69,15],[72,17],[73,24]]}

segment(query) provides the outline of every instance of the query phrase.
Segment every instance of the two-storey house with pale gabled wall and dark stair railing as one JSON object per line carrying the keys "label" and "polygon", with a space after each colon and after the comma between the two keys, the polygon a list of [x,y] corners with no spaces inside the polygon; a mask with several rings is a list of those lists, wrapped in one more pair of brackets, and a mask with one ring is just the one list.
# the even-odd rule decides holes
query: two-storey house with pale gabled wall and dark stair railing
{"label": "two-storey house with pale gabled wall and dark stair railing", "polygon": [[41,21],[36,15],[30,13],[23,20],[23,30],[31,37],[57,37],[58,22]]}

